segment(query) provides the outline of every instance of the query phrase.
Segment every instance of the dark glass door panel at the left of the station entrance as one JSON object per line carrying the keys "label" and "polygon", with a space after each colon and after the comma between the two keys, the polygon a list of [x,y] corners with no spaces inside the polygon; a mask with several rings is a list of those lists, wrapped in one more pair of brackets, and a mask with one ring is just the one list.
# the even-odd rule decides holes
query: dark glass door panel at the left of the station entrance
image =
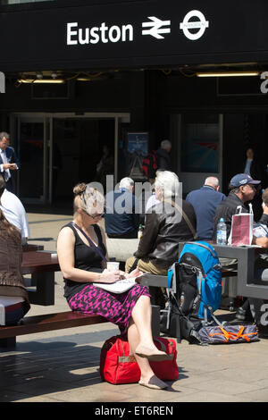
{"label": "dark glass door panel at the left of the station entrance", "polygon": [[49,200],[50,120],[43,116],[18,115],[16,125],[20,157],[19,197],[24,203],[45,203]]}

